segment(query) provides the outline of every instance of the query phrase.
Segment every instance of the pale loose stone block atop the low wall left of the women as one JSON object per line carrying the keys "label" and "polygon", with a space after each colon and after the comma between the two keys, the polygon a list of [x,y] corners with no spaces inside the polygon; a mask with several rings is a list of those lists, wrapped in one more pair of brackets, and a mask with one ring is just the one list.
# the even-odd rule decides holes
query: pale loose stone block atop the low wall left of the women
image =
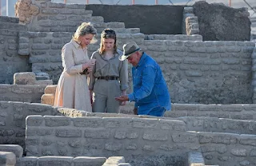
{"label": "pale loose stone block atop the low wall left of the women", "polygon": [[35,81],[33,72],[14,73],[14,85],[34,85]]}

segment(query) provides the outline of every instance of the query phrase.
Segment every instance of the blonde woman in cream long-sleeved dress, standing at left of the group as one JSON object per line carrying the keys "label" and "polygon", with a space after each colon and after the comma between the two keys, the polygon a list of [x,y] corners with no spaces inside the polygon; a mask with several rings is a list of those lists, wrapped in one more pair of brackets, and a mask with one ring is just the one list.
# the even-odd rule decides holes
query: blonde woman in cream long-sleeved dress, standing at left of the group
{"label": "blonde woman in cream long-sleeved dress, standing at left of the group", "polygon": [[97,30],[93,25],[83,22],[74,33],[72,40],[62,48],[64,67],[55,93],[54,106],[92,111],[87,74],[95,65],[90,60],[87,46],[95,40]]}

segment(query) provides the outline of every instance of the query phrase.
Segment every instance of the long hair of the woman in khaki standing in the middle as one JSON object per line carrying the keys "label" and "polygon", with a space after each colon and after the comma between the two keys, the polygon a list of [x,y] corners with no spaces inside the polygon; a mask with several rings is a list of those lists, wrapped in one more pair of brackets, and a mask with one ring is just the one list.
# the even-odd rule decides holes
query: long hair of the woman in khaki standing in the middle
{"label": "long hair of the woman in khaki standing in the middle", "polygon": [[102,31],[99,53],[103,54],[105,52],[104,45],[103,45],[103,39],[104,38],[113,38],[114,39],[114,53],[118,53],[117,35],[115,34],[114,30],[111,30],[109,28]]}

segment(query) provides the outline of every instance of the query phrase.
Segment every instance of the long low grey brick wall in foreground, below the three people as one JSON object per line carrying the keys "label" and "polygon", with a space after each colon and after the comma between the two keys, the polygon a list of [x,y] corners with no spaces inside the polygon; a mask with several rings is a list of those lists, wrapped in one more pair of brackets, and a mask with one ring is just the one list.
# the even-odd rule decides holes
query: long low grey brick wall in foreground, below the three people
{"label": "long low grey brick wall in foreground, below the three people", "polygon": [[[182,166],[193,149],[202,151],[206,164],[254,165],[255,140],[254,135],[186,132],[183,121],[173,120],[26,118],[27,156],[124,156],[132,165],[139,165],[144,157],[148,166],[161,165],[163,160]],[[172,160],[166,160],[168,156]],[[153,164],[154,159],[159,163]]]}

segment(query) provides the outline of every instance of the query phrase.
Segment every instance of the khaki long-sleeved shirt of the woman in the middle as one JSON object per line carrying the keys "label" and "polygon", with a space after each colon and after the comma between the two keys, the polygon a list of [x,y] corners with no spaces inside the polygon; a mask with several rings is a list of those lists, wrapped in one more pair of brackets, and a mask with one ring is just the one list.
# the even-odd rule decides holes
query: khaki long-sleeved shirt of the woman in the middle
{"label": "khaki long-sleeved shirt of the woman in the middle", "polygon": [[128,61],[119,61],[118,57],[122,55],[122,51],[114,54],[109,60],[104,58],[98,50],[93,53],[91,59],[96,59],[93,71],[90,73],[89,89],[94,89],[94,83],[97,77],[114,76],[119,77],[120,89],[126,90],[128,88]]}

